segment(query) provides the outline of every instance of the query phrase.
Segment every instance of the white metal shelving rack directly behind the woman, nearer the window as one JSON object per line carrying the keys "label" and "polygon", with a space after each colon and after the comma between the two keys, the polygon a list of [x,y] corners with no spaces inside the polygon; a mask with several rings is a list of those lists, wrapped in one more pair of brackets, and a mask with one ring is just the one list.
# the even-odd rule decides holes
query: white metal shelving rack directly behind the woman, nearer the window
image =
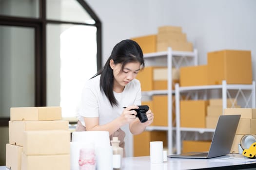
{"label": "white metal shelving rack directly behind the woman, nearer the window", "polygon": [[[185,65],[189,65],[189,61],[194,60],[192,65],[197,65],[198,57],[197,57],[197,50],[193,52],[187,51],[172,51],[170,47],[168,47],[167,51],[162,52],[154,52],[154,53],[147,53],[144,54],[145,60],[155,60],[157,58],[165,58],[167,59],[168,69],[168,89],[167,90],[153,90],[153,91],[142,91],[142,96],[153,96],[153,95],[166,95],[168,96],[168,126],[149,126],[146,128],[148,131],[168,131],[168,153],[173,153],[173,128],[172,125],[172,95],[175,94],[175,91],[172,90],[172,67],[179,68],[182,63]],[[157,62],[156,62],[157,63]]]}

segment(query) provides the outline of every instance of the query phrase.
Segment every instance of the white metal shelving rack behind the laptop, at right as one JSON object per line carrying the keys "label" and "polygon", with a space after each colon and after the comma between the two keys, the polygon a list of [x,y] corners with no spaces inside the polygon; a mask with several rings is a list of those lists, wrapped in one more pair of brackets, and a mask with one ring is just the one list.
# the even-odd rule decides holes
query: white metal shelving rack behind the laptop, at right
{"label": "white metal shelving rack behind the laptop, at right", "polygon": [[[186,132],[199,132],[199,133],[204,133],[204,132],[215,132],[215,129],[206,129],[206,128],[184,128],[180,127],[180,93],[191,93],[195,92],[195,98],[197,100],[198,91],[204,91],[207,92],[207,90],[212,90],[212,89],[219,89],[222,90],[222,105],[223,109],[227,108],[227,98],[231,99],[229,90],[237,90],[236,91],[236,97],[234,101],[237,101],[238,95],[241,94],[243,97],[243,100],[245,102],[245,105],[243,107],[250,107],[249,106],[249,101],[252,101],[251,107],[255,108],[256,107],[256,87],[255,87],[255,81],[252,82],[251,85],[227,85],[226,81],[222,81],[222,85],[201,85],[201,86],[186,86],[186,87],[180,87],[179,84],[175,85],[175,104],[176,104],[176,147],[177,147],[177,153],[181,153],[181,131],[186,131]],[[250,91],[249,97],[246,98],[244,95],[245,91]],[[205,93],[204,99],[207,99],[207,95]],[[233,102],[234,102],[233,101]],[[234,105],[234,103],[233,103]]]}

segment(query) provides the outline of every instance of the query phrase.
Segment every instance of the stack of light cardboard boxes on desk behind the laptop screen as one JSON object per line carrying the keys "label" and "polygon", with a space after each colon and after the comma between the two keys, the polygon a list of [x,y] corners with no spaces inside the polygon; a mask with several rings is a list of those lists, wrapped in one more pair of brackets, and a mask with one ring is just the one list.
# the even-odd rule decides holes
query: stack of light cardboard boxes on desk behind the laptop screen
{"label": "stack of light cardboard boxes on desk behind the laptop screen", "polygon": [[256,109],[252,108],[227,108],[224,115],[241,115],[236,135],[230,153],[239,153],[239,144],[242,136],[251,134],[256,135]]}

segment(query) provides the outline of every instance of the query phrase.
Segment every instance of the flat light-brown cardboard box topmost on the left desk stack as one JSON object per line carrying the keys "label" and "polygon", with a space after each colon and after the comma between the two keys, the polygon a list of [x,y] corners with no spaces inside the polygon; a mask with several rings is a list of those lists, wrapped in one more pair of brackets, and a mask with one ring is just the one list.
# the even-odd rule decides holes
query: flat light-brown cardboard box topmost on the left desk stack
{"label": "flat light-brown cardboard box topmost on the left desk stack", "polygon": [[61,107],[12,107],[11,120],[61,120]]}

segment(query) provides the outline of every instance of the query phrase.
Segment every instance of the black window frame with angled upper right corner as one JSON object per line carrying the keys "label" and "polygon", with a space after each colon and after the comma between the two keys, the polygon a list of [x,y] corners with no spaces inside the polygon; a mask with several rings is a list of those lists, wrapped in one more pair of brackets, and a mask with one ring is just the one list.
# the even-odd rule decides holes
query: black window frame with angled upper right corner
{"label": "black window frame with angled upper right corner", "polygon": [[[94,19],[95,24],[46,19],[46,0],[39,0],[39,18],[9,17],[0,15],[0,26],[32,27],[35,29],[35,106],[46,106],[46,25],[79,24],[97,28],[97,70],[102,67],[101,21],[84,0],[77,0]],[[0,117],[0,126],[8,126],[9,118]]]}

